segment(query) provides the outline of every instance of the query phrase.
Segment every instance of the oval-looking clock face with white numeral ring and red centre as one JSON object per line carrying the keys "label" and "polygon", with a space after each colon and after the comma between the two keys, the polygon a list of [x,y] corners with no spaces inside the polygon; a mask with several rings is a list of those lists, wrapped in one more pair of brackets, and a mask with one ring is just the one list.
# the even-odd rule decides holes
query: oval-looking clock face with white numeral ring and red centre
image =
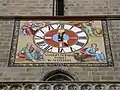
{"label": "oval-looking clock face with white numeral ring and red centre", "polygon": [[33,40],[43,51],[70,53],[84,47],[88,42],[88,35],[79,27],[55,23],[38,29]]}

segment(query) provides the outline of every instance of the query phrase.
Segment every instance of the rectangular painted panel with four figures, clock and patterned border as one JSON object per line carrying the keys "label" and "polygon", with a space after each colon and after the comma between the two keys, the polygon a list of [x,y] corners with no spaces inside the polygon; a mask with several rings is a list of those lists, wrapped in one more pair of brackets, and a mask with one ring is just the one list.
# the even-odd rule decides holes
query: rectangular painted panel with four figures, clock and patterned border
{"label": "rectangular painted panel with four figures, clock and patterned border", "polygon": [[113,66],[107,22],[16,20],[9,66]]}

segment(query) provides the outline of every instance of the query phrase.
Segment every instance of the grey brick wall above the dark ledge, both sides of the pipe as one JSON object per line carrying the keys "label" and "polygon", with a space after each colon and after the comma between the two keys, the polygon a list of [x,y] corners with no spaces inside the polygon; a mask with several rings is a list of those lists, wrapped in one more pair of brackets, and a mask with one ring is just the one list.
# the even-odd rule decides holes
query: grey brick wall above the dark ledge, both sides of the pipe
{"label": "grey brick wall above the dark ledge, both sides of the pipe", "polygon": [[[53,0],[0,0],[0,16],[52,16]],[[64,0],[65,16],[119,15],[119,0]]]}

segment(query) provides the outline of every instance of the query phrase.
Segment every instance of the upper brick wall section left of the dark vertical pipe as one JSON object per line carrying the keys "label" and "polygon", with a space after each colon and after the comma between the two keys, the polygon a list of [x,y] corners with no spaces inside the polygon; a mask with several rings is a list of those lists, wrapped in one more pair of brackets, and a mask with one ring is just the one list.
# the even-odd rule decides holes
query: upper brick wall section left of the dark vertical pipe
{"label": "upper brick wall section left of the dark vertical pipe", "polygon": [[52,0],[0,0],[0,16],[49,16]]}

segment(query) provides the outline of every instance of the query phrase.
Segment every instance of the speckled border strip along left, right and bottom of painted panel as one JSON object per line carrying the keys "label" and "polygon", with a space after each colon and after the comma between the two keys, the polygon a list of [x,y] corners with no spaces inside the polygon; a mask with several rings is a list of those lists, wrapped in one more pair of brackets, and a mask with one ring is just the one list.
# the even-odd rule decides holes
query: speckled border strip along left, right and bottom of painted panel
{"label": "speckled border strip along left, right and bottom of painted panel", "polygon": [[[48,19],[48,20],[51,20],[51,19]],[[64,20],[64,19],[59,18],[57,20]],[[73,20],[73,19],[68,19],[67,21],[70,21],[70,20]],[[93,20],[96,20],[96,19],[93,19]],[[19,27],[20,27],[20,20],[15,20],[8,66],[9,67],[45,67],[45,66],[50,66],[50,67],[52,66],[57,66],[57,67],[112,67],[114,66],[114,62],[113,62],[111,46],[110,46],[107,19],[101,20],[101,22],[102,22],[102,27],[104,29],[103,30],[104,31],[104,44],[105,44],[104,46],[105,46],[105,51],[106,51],[107,63],[14,63],[15,56],[16,56],[18,36],[19,36]]]}

